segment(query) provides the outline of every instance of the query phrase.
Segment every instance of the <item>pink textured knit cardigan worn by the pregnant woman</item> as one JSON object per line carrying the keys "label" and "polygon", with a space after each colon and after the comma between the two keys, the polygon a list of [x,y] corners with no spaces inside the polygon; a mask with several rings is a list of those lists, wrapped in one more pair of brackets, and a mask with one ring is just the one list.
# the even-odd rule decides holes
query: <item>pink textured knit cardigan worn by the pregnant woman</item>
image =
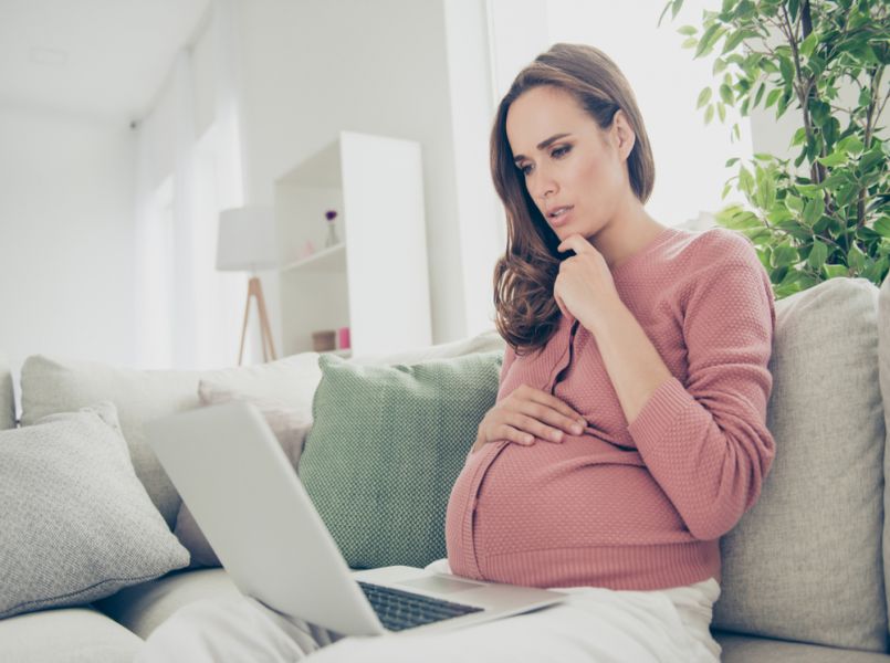
{"label": "pink textured knit cardigan worn by the pregnant woman", "polygon": [[461,576],[535,587],[661,589],[720,579],[719,537],[756,502],[775,311],[751,243],[664,230],[612,270],[672,373],[628,425],[594,336],[563,318],[542,351],[507,348],[498,399],[546,390],[582,435],[485,444],[451,492],[446,539]]}

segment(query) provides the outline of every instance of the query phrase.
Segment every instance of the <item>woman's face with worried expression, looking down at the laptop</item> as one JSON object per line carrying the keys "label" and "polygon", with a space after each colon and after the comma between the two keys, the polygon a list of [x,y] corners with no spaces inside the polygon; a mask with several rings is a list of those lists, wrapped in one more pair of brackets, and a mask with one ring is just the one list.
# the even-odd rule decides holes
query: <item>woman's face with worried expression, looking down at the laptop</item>
{"label": "woman's face with worried expression, looking down at the laptop", "polygon": [[533,87],[510,105],[506,136],[528,194],[561,240],[593,238],[632,196],[634,137],[620,112],[603,130],[568,92]]}

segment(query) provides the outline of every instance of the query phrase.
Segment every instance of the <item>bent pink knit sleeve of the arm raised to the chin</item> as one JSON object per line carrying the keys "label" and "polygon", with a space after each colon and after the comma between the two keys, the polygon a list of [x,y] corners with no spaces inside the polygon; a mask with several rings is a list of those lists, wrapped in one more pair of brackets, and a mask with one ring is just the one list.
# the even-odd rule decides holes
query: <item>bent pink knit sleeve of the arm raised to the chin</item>
{"label": "bent pink knit sleeve of the arm raised to the chin", "polygon": [[628,428],[701,540],[721,537],[754,505],[775,455],[765,423],[773,293],[753,248],[731,253],[702,270],[688,291],[687,383],[666,380]]}

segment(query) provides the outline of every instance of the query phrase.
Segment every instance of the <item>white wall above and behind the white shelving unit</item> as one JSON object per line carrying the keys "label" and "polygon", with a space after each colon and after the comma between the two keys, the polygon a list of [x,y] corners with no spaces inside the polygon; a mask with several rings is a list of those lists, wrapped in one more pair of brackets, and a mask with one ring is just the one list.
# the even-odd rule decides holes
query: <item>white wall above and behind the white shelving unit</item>
{"label": "white wall above and behind the white shelving unit", "polygon": [[341,129],[419,141],[433,341],[464,336],[443,0],[242,0],[237,24],[247,201],[271,203],[275,178]]}

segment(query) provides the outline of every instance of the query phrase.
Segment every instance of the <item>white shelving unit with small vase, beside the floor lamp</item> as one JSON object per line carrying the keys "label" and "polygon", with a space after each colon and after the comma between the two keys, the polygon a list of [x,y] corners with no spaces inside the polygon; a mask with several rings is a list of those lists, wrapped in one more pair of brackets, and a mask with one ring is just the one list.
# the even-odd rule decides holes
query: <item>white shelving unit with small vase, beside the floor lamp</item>
{"label": "white shelving unit with small vase, beside the floor lamp", "polygon": [[285,355],[341,327],[355,355],[432,343],[419,144],[343,131],[275,180],[275,215]]}

